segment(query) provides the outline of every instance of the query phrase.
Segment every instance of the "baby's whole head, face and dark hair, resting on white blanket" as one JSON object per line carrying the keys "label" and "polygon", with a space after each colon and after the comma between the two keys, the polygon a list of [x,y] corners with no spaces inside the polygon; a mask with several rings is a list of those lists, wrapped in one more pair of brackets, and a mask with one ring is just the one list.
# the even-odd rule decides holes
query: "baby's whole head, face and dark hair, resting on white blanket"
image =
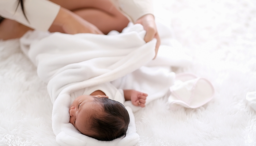
{"label": "baby's whole head, face and dark hair, resting on white blanket", "polygon": [[99,141],[125,136],[130,122],[124,105],[103,95],[78,96],[69,107],[69,115],[77,130]]}

